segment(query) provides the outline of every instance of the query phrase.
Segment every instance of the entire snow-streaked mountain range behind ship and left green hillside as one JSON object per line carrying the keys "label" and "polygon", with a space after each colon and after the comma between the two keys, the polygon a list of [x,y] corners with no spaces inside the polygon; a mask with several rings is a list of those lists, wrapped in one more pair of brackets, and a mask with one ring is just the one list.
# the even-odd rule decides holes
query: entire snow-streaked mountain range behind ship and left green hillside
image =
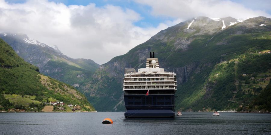
{"label": "entire snow-streaked mountain range behind ship and left green hillside", "polygon": [[176,109],[266,111],[268,107],[255,100],[269,83],[270,53],[258,52],[271,49],[270,35],[271,19],[263,16],[244,21],[199,16],[160,31],[100,67],[90,60],[76,62],[56,47],[26,40],[26,35],[2,33],[0,38],[41,73],[78,86],[98,111],[125,110],[124,68],[145,67],[149,52],[155,52],[161,68],[177,73]]}

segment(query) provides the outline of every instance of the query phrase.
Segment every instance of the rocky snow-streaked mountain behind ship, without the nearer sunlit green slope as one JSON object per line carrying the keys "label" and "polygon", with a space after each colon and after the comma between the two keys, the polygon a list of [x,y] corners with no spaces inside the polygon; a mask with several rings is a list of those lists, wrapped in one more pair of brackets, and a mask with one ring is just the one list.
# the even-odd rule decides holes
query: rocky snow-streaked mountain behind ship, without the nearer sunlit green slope
{"label": "rocky snow-streaked mountain behind ship, without the nearer sunlit green slope", "polygon": [[[263,23],[266,26],[260,26]],[[195,104],[213,95],[216,83],[210,84],[208,79],[216,64],[238,57],[255,46],[268,48],[270,37],[260,39],[266,34],[270,34],[270,19],[266,17],[243,22],[232,17],[193,18],[160,31],[128,53],[102,64],[82,92],[97,110],[123,111],[124,103],[120,102],[124,68],[144,68],[149,52],[155,52],[161,68],[177,73],[176,108],[199,110]]]}

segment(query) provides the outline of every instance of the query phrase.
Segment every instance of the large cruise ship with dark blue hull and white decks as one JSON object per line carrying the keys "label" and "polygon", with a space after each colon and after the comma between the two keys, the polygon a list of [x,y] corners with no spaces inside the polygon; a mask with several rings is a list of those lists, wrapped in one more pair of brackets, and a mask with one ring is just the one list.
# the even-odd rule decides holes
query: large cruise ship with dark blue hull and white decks
{"label": "large cruise ship with dark blue hull and white decks", "polygon": [[146,67],[125,68],[123,91],[128,117],[174,117],[176,73],[159,67],[158,58],[150,52]]}

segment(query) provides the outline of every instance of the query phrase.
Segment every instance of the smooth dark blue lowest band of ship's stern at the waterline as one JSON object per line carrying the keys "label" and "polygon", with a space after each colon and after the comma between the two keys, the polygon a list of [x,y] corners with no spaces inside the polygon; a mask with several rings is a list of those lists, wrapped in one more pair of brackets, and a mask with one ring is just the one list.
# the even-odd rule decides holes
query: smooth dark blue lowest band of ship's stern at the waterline
{"label": "smooth dark blue lowest band of ship's stern at the waterline", "polygon": [[172,110],[128,110],[124,113],[126,118],[173,118]]}

